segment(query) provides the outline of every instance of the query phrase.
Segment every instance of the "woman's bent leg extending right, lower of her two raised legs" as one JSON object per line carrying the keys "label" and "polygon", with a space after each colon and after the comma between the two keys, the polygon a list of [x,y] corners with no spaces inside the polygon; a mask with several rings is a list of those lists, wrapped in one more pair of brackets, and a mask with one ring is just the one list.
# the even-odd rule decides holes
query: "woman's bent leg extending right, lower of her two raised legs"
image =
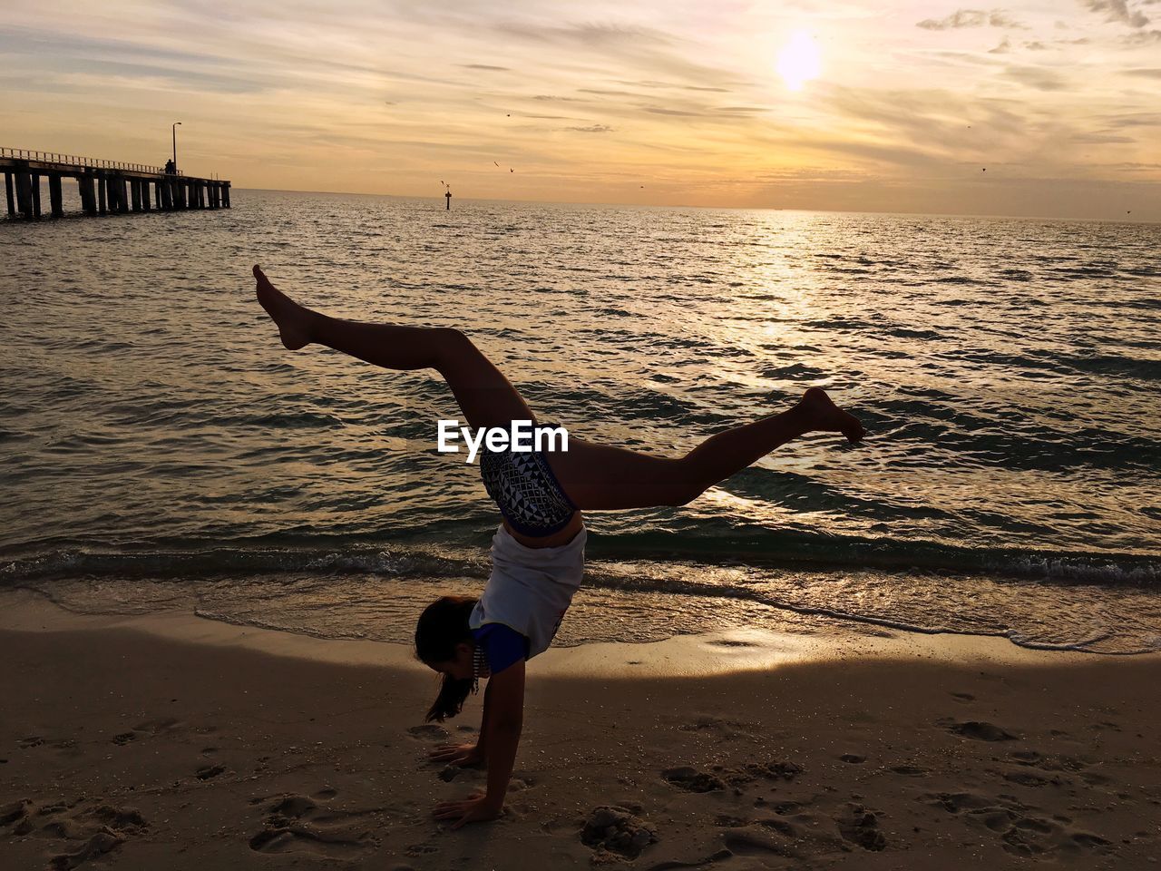
{"label": "woman's bent leg extending right, lower of her two raised legs", "polygon": [[852,442],[864,436],[858,419],[813,387],[794,408],[720,432],[680,459],[570,438],[569,449],[548,454],[548,461],[582,511],[684,505],[779,445],[820,431],[842,432]]}

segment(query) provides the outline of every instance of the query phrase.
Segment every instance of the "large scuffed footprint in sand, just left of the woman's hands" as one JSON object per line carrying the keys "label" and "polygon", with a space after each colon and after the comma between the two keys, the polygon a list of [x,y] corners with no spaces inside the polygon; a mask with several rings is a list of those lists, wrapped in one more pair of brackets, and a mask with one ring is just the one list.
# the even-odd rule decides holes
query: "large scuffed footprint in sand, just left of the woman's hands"
{"label": "large scuffed footprint in sand, just left of the woman's hands", "polygon": [[[332,787],[316,796],[333,798]],[[374,823],[361,818],[374,811],[334,811],[307,796],[282,796],[269,806],[266,827],[250,838],[258,852],[307,852],[319,858],[353,859],[374,847]]]}

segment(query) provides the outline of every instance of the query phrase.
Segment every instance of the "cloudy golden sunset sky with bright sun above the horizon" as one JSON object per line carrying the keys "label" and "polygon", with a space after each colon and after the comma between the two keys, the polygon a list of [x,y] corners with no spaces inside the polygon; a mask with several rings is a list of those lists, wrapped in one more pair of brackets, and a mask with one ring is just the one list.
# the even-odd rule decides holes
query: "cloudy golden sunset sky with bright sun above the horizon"
{"label": "cloudy golden sunset sky with bright sun above the horizon", "polygon": [[1161,221],[1161,0],[3,0],[0,146],[239,188]]}

